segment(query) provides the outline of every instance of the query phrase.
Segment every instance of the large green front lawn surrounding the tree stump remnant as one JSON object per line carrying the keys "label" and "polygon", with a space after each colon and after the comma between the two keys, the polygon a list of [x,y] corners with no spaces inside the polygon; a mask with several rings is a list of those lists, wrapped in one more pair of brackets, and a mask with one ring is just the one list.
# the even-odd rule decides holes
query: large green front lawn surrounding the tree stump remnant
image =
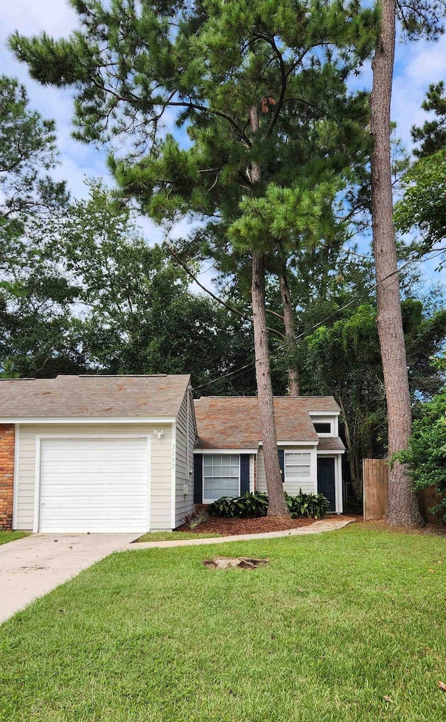
{"label": "large green front lawn surrounding the tree stump remnant", "polygon": [[444,722],[445,607],[445,539],[359,524],[113,554],[0,627],[0,719]]}

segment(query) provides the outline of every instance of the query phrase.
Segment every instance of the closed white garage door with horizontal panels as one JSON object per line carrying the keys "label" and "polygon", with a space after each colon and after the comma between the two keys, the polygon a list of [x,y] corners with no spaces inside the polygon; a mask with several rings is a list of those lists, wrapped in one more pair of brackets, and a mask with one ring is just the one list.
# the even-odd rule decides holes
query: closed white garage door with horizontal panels
{"label": "closed white garage door with horizontal panels", "polygon": [[43,439],[40,531],[145,531],[147,438]]}

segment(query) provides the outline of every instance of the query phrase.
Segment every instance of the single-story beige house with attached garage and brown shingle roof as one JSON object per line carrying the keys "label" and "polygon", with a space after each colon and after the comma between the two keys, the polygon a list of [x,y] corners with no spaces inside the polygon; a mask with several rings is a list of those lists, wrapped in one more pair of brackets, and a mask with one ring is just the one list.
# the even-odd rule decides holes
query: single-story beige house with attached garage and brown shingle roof
{"label": "single-story beige house with attached garage and brown shingle roof", "polygon": [[[289,493],[321,490],[342,511],[339,409],[274,400]],[[188,375],[0,381],[0,529],[175,529],[194,503],[266,490],[258,401],[202,397]]]}

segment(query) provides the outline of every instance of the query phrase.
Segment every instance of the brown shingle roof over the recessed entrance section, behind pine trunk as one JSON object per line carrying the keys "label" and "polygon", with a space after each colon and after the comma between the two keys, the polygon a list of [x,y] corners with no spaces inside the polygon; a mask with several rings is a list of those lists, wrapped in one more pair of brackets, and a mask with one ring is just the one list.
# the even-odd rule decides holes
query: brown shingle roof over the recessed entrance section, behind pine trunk
{"label": "brown shingle roof over the recessed entrance section, behind pine trunk", "polygon": [[[258,448],[261,422],[257,396],[202,396],[194,401],[196,448]],[[279,441],[318,443],[309,411],[338,412],[332,396],[275,396]]]}

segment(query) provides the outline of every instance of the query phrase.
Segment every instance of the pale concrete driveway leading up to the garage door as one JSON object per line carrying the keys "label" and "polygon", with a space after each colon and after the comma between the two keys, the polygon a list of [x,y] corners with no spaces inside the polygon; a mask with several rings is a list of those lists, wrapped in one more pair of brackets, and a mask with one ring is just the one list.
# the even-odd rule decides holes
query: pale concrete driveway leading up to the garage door
{"label": "pale concrete driveway leading up to the garage door", "polygon": [[0,624],[141,534],[32,534],[0,544]]}

